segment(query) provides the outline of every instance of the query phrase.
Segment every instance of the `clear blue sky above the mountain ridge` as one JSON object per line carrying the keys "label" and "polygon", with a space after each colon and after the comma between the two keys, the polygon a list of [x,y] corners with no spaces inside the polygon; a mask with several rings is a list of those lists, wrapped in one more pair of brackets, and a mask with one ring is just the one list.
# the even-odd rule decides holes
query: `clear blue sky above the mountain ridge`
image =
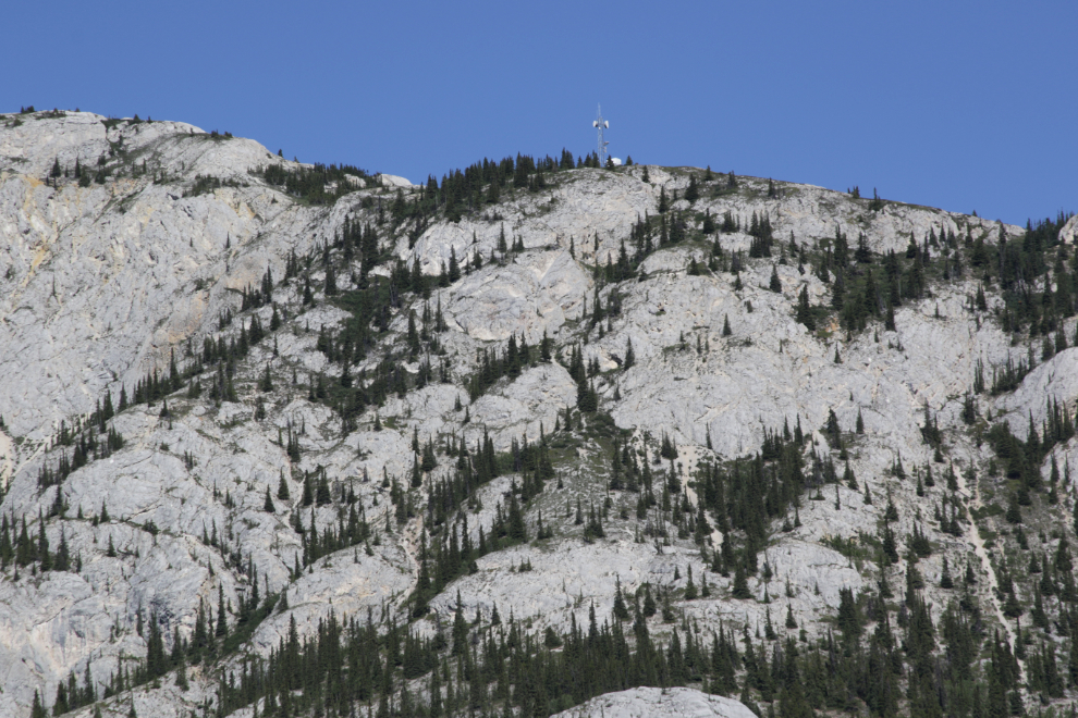
{"label": "clear blue sky above the mountain ridge", "polygon": [[0,110],[413,182],[595,147],[1024,223],[1078,210],[1078,2],[19,2]]}

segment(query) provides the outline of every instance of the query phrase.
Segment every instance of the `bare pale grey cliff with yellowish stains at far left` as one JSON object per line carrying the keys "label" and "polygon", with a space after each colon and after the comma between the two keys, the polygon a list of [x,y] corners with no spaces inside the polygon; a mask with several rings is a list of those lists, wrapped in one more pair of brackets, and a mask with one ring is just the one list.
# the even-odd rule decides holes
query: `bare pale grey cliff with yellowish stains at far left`
{"label": "bare pale grey cliff with yellowish stains at far left", "polygon": [[[171,347],[208,329],[233,290],[257,283],[277,253],[259,234],[309,239],[301,227],[311,215],[284,212],[273,193],[184,197],[183,186],[146,175],[59,189],[40,180],[53,162],[73,171],[78,160],[93,172],[114,147],[136,168],[145,160],[150,173],[187,180],[246,182],[248,169],[280,161],[250,140],[192,132],[157,122],[107,131],[88,113],[3,132],[0,395],[11,397],[4,420],[16,435],[47,436],[118,380],[167,366]],[[254,245],[262,248],[252,253]],[[280,272],[281,258],[271,265]]]}

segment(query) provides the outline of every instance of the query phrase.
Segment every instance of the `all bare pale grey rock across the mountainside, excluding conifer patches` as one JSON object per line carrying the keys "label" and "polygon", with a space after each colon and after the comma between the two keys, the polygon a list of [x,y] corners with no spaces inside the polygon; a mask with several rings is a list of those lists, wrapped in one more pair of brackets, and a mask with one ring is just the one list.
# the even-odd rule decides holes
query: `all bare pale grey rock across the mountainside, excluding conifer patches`
{"label": "all bare pale grey rock across the mountainside, excluding conifer patches", "polygon": [[[646,585],[669,589],[679,619],[652,619],[656,636],[681,630],[682,619],[705,636],[720,626],[739,634],[770,627],[772,619],[781,624],[788,610],[797,630],[780,631],[783,637],[800,640],[804,631],[806,642],[814,641],[832,630],[846,590],[877,590],[875,548],[865,542],[874,541],[884,523],[902,537],[916,528],[931,540],[934,550],[917,566],[936,620],[955,595],[940,587],[946,558],[956,574],[969,562],[979,581],[968,591],[984,607],[982,618],[1007,623],[993,592],[993,562],[1003,552],[989,560],[992,547],[985,548],[976,524],[984,515],[970,509],[988,510],[993,497],[1000,508],[1009,488],[1005,478],[988,475],[993,455],[983,422],[967,429],[961,413],[979,366],[991,379],[991,370],[1008,358],[1027,356],[1026,344],[1012,346],[1010,333],[1001,327],[993,309],[1002,300],[991,286],[988,309],[975,308],[982,277],[969,271],[967,257],[975,240],[1013,240],[1019,227],[896,202],[871,211],[868,200],[807,185],[781,184],[769,196],[768,183],[750,177],[739,177],[740,188],[726,191],[725,175],[705,181],[702,171],[691,169],[649,166],[650,182],[644,182],[645,169],[629,166],[560,172],[535,191],[510,183],[499,203],[460,222],[436,214],[411,236],[407,222],[379,223],[381,206],[393,202],[399,189],[402,196],[418,194],[402,177],[344,177],[356,191],[320,206],[267,184],[262,168],[301,165],[253,140],[208,135],[183,123],[50,115],[0,116],[0,513],[25,517],[34,536],[44,524],[53,550],[64,543],[81,567],[32,573],[26,566],[17,580],[12,566],[0,572],[0,715],[26,715],[35,691],[51,705],[58,683],[71,672],[82,680],[87,667],[102,688],[121,666],[146,655],[147,632],[140,635],[136,627],[151,616],[170,648],[174,632],[189,640],[200,607],[216,610],[219,595],[232,607],[229,621],[238,620],[236,607],[255,583],[264,596],[283,594],[287,601],[242,647],[243,655],[264,658],[287,639],[293,620],[306,639],[331,615],[363,621],[369,611],[382,630],[389,620],[412,621],[417,633],[431,637],[452,624],[460,596],[469,620],[476,614],[489,620],[497,607],[503,620],[512,616],[528,632],[565,631],[574,621],[587,624],[592,606],[600,623],[616,621],[618,587],[632,595]],[[94,177],[73,176],[76,161]],[[54,166],[60,176],[49,177]],[[685,199],[689,176],[703,186],[693,202]],[[657,213],[662,196],[671,206],[663,227],[665,216],[679,216],[695,234],[647,256],[632,278],[601,281],[602,268],[617,264],[623,248],[634,251],[634,227]],[[706,214],[721,223],[726,212],[739,220],[738,228],[700,234]],[[764,214],[775,249],[770,258],[749,259],[749,218]],[[404,298],[387,306],[384,325],[369,335],[369,346],[354,355],[347,371],[353,386],[369,388],[389,357],[390,375],[401,384],[384,392],[380,404],[365,404],[350,417],[351,425],[336,395],[315,396],[319,386],[348,388],[342,362],[330,358],[346,351],[344,344],[331,339],[328,351],[323,330],[340,332],[359,311],[340,295],[327,296],[328,273],[335,268],[338,287],[352,290],[356,280],[366,281],[367,270],[371,281],[400,277],[400,270],[393,261],[364,267],[358,258],[343,260],[333,243],[346,220],[377,232],[383,255],[400,260],[405,275],[418,267],[433,277],[454,261],[463,268],[455,281],[439,285],[436,278],[429,298],[394,284]],[[933,277],[929,294],[896,308],[894,330],[878,318],[847,333],[832,314],[810,331],[796,320],[798,296],[804,288],[812,306],[828,306],[834,283],[821,280],[811,261],[798,267],[789,240],[822,256],[836,227],[852,248],[863,233],[875,257],[870,267],[880,276],[881,255],[906,252],[911,237],[928,247],[930,233],[956,235],[946,252],[960,251],[967,271],[961,278]],[[1076,227],[1071,219],[1061,239],[1073,245]],[[523,249],[502,251],[502,239]],[[723,261],[740,252],[738,274],[707,269],[718,256],[713,242]],[[943,249],[930,251],[938,256]],[[299,271],[282,282],[293,261]],[[259,289],[267,269],[272,287],[266,300],[245,310],[244,293]],[[781,290],[769,288],[772,271]],[[304,298],[308,282],[310,301]],[[597,298],[617,310],[593,323]],[[41,485],[42,469],[56,470],[61,455],[72,456],[70,447],[56,446],[61,421],[65,429],[86,421],[107,395],[119,403],[121,387],[133,398],[148,372],[168,377],[173,355],[181,369],[193,366],[207,339],[215,346],[238,342],[242,326],[246,342],[253,318],[268,329],[274,306],[280,329],[245,356],[226,370],[213,366],[198,379],[177,379],[182,386],[168,393],[168,411],[160,401],[119,411],[108,425],[123,435],[122,448],[77,468],[59,486]],[[421,351],[407,349],[412,311],[413,331],[424,335]],[[431,329],[425,312],[437,312],[444,329]],[[1066,319],[1063,329],[1073,336],[1074,321]],[[531,347],[530,361],[517,368],[518,375],[469,393],[481,376],[481,354],[501,355],[511,338]],[[549,361],[538,358],[544,339]],[[580,387],[568,370],[577,348],[598,370],[589,386],[601,412],[583,419],[585,430],[551,438],[555,428],[563,431],[566,410],[580,421]],[[1062,349],[1014,392],[979,397],[978,421],[990,410],[1025,438],[1032,417],[1040,431],[1048,399],[1073,411],[1076,362],[1078,349]],[[210,397],[218,368],[222,383],[230,372],[234,396]],[[434,377],[418,381],[428,368]],[[267,372],[269,387],[261,385]],[[200,395],[187,391],[196,381]],[[683,495],[695,507],[698,467],[760,451],[764,430],[781,431],[784,423],[804,430],[806,457],[834,449],[841,475],[845,460],[823,432],[831,411],[849,435],[856,487],[817,487],[796,515],[785,517],[796,523],[775,518],[760,552],[768,578],[764,570],[747,578],[749,598],[733,597],[734,575],[711,570],[724,538],[720,530],[698,543],[677,537],[673,528],[663,540],[654,523],[669,511],[648,508],[637,520],[638,494],[608,488],[617,438],[657,474],[670,472],[675,508]],[[934,447],[924,442],[926,411],[945,436],[943,463],[933,461]],[[863,433],[854,435],[858,420]],[[660,462],[664,436],[677,446],[676,460]],[[481,453],[488,438],[495,451],[509,454],[507,465],[502,475],[475,488],[473,500],[454,507],[445,525],[460,525],[462,536],[467,532],[478,542],[480,529],[491,531],[527,473],[513,465],[512,453],[549,442],[553,478],[522,510],[532,532],[541,512],[553,536],[478,558],[430,599],[429,612],[412,616],[421,553],[427,542],[433,545],[436,532],[445,531],[436,525],[430,500],[432,487],[453,475],[458,460],[444,447],[462,442]],[[438,466],[419,476],[428,441]],[[1053,456],[1061,471],[1069,459],[1078,467],[1074,440]],[[899,461],[905,480],[895,475]],[[941,476],[952,462],[957,478],[947,488]],[[927,466],[938,479],[928,490],[920,480]],[[1048,480],[1051,456],[1041,472]],[[421,485],[413,488],[414,475]],[[329,496],[304,502],[305,480],[316,490],[324,481]],[[279,494],[282,483],[286,498]],[[409,498],[395,505],[399,491]],[[657,495],[662,491],[660,480]],[[1065,511],[1070,491],[1062,485],[1061,505],[1051,510]],[[961,535],[930,520],[944,498],[959,507]],[[889,503],[897,518],[884,518]],[[65,510],[54,511],[61,504]],[[586,535],[577,507],[581,513],[599,511],[605,534]],[[338,531],[351,511],[373,535],[305,564],[309,527],[318,535]],[[1045,535],[1043,549],[1057,541]],[[905,546],[898,550],[903,557],[890,569],[892,583],[908,568]],[[690,569],[696,587],[706,577],[710,595],[683,599]],[[240,655],[223,660],[235,668]],[[143,685],[111,700],[105,715],[126,715],[131,701],[139,716],[198,708],[212,695],[216,678],[201,668],[188,678],[189,691],[177,689],[170,673],[157,689]],[[736,701],[690,689],[641,688],[560,715],[751,714]]]}

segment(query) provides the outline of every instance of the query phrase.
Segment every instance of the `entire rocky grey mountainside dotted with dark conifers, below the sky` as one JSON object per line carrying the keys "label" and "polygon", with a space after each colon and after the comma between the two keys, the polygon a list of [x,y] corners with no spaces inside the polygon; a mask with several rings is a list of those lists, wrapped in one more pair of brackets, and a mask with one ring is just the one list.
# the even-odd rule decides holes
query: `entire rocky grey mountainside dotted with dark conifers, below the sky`
{"label": "entire rocky grey mountainside dotted with dark conifers, below the sky", "polygon": [[0,115],[0,714],[1068,705],[1076,219],[596,165]]}

